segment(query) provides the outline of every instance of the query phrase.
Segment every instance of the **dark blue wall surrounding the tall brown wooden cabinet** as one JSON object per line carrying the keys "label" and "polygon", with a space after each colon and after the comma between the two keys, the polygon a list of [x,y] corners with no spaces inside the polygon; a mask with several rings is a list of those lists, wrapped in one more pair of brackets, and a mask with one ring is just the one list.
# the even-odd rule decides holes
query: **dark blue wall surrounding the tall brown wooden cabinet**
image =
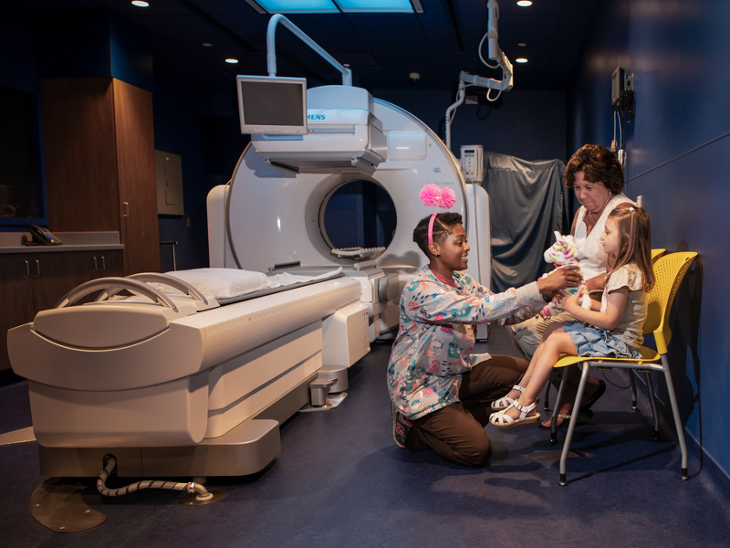
{"label": "dark blue wall surrounding the tall brown wooden cabinet", "polygon": [[[233,174],[247,137],[238,130],[235,86],[214,96],[153,68],[150,34],[106,9],[31,12],[5,9],[0,18],[0,85],[36,95],[39,78],[113,77],[152,91],[155,148],[183,157],[184,216],[160,216],[160,239],[178,241],[178,269],[208,266],[205,197]],[[39,163],[43,174],[42,125]],[[45,184],[45,176],[42,177]],[[42,193],[45,200],[45,192]],[[44,224],[46,219],[36,219]],[[21,230],[28,220],[0,229]],[[172,269],[169,247],[162,270]]]}

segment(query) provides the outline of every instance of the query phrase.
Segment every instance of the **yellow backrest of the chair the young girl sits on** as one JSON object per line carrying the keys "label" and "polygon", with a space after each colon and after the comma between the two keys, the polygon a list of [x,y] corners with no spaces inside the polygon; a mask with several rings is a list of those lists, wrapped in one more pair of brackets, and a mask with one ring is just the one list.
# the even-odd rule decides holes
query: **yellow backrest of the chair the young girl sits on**
{"label": "yellow backrest of the chair the young girl sits on", "polygon": [[672,337],[669,330],[669,311],[672,309],[674,296],[679,290],[684,275],[697,257],[694,251],[670,253],[658,258],[653,263],[656,283],[648,294],[649,309],[644,321],[644,334],[654,333],[654,340],[659,353],[666,353],[666,345]]}

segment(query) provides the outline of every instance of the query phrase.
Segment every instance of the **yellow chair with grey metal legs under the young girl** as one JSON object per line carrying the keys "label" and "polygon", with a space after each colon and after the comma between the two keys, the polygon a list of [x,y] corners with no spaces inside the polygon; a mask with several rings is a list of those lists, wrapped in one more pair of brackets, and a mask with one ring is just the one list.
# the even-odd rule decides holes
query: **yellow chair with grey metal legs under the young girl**
{"label": "yellow chair with grey metal legs under the young girl", "polygon": [[[654,284],[653,289],[649,292],[647,296],[649,301],[649,307],[646,321],[644,321],[643,333],[644,335],[647,335],[653,332],[654,342],[656,343],[657,348],[656,351],[652,350],[651,348],[641,346],[640,359],[630,360],[625,358],[564,356],[558,361],[557,364],[555,364],[556,368],[583,364],[583,371],[580,376],[580,383],[578,386],[578,394],[576,395],[576,401],[573,406],[574,409],[580,408],[580,403],[583,398],[583,391],[586,388],[586,379],[588,378],[588,373],[591,366],[597,366],[606,369],[610,369],[612,367],[617,367],[620,369],[635,369],[643,373],[647,381],[649,397],[652,402],[652,412],[654,415],[654,440],[657,440],[659,438],[659,415],[656,411],[656,402],[654,401],[654,390],[650,373],[652,371],[662,372],[662,374],[664,374],[664,379],[667,385],[667,392],[669,393],[669,400],[672,406],[674,427],[677,430],[679,447],[682,451],[682,479],[689,479],[689,477],[687,476],[687,446],[684,442],[684,430],[681,418],[679,416],[679,410],[677,408],[677,399],[674,395],[672,374],[669,371],[669,362],[667,360],[667,345],[672,338],[672,332],[669,329],[669,311],[672,308],[674,296],[679,289],[680,283],[682,283],[684,274],[687,273],[687,270],[692,265],[695,257],[697,257],[697,254],[694,252],[671,253],[669,255],[658,258],[653,264],[654,274],[656,276],[656,283]],[[631,376],[633,375],[631,374]],[[563,381],[560,383],[560,387],[558,389],[558,400],[556,402],[555,409],[553,410],[553,420],[550,437],[550,441],[552,441],[553,443],[557,441],[556,425],[558,409],[560,408],[560,401],[565,390],[565,379],[567,377],[567,374],[563,374]],[[570,440],[573,437],[573,431],[576,427],[578,415],[578,413],[572,413],[570,415],[570,422],[568,423],[568,433],[566,434],[565,443],[563,444],[563,451],[560,456],[560,485],[568,484],[566,481],[566,465],[568,462],[568,452],[570,450]]]}

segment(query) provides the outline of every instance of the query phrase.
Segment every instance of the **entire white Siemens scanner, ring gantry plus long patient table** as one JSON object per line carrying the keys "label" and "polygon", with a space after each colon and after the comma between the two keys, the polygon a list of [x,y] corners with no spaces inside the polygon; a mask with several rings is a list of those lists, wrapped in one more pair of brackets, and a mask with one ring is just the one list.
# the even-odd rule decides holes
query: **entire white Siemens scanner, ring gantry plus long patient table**
{"label": "entire white Siemens scanner, ring gantry plus long patient table", "polygon": [[[203,276],[253,274],[258,287],[202,290],[201,271],[97,279],[8,332],[43,475],[99,476],[108,454],[126,477],[264,469],[280,451],[278,425],[310,395],[321,405],[328,385],[346,387],[347,368],[397,327],[401,288],[425,264],[412,242],[433,213],[418,197],[425,184],[454,190],[451,211],[472,246],[467,272],[488,284],[488,197],[465,183],[443,142],[366,90],[326,86],[307,100],[308,134],[255,135],[232,183],[208,197]],[[324,212],[351,181],[381,185],[395,205],[381,249],[331,246]],[[293,289],[271,289],[278,275]]]}

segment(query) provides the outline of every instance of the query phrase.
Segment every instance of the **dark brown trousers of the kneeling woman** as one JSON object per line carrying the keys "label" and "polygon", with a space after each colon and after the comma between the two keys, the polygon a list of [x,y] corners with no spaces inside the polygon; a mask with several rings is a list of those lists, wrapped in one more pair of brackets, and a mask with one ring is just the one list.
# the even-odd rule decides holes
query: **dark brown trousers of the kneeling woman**
{"label": "dark brown trousers of the kneeling woman", "polygon": [[461,401],[411,420],[405,447],[432,448],[443,458],[469,467],[483,467],[492,456],[486,435],[491,405],[518,384],[529,363],[522,358],[493,355],[462,377]]}

